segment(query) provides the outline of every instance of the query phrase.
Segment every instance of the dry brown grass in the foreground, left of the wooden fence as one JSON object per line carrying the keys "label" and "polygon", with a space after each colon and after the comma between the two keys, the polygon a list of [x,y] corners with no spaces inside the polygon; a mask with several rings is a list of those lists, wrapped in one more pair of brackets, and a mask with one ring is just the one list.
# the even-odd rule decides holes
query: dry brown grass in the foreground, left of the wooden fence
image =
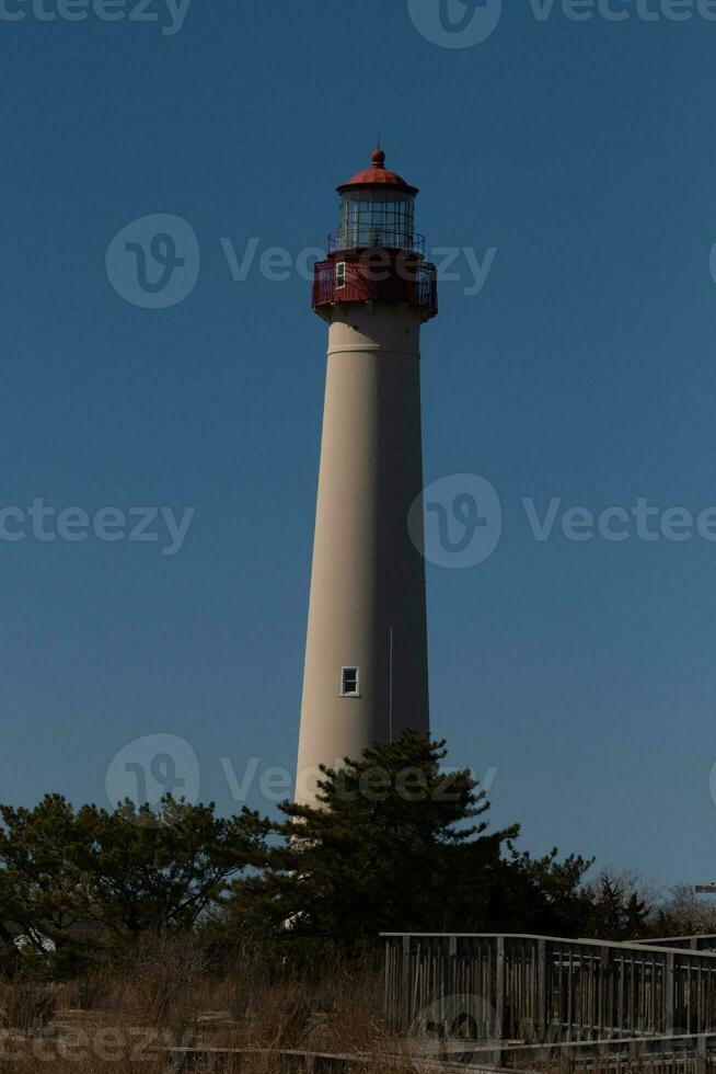
{"label": "dry brown grass in the foreground, left of the wooden fence", "polygon": [[[326,953],[307,967],[253,944],[217,957],[186,938],[147,941],[59,985],[21,973],[0,979],[0,1074],[154,1074],[171,1067],[153,1049],[198,1044],[267,1051],[252,1056],[252,1074],[279,1072],[289,1049],[373,1054],[366,1072],[404,1074],[411,1067],[381,1058],[381,975],[370,956]],[[240,1067],[226,1059],[211,1069]]]}

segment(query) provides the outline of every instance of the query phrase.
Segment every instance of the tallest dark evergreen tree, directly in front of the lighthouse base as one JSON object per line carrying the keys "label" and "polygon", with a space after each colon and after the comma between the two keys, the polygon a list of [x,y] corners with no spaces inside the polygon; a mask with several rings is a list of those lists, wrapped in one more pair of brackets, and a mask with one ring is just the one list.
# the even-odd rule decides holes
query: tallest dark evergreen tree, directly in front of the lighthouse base
{"label": "tallest dark evergreen tree, directly in front of the lighthouse base", "polygon": [[380,932],[437,930],[484,918],[503,844],[485,834],[485,793],[469,770],[446,773],[444,743],[405,732],[336,772],[323,768],[319,806],[281,806],[281,843],[257,877],[239,880],[229,926],[338,944]]}

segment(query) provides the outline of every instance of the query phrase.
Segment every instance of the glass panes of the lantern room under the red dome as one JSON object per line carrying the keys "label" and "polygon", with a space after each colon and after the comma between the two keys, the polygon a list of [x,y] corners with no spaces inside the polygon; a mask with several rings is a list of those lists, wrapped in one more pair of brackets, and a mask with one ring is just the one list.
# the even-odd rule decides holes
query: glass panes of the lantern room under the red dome
{"label": "glass panes of the lantern room under the red dome", "polygon": [[407,191],[351,190],[340,198],[340,250],[412,250],[414,227],[415,195]]}

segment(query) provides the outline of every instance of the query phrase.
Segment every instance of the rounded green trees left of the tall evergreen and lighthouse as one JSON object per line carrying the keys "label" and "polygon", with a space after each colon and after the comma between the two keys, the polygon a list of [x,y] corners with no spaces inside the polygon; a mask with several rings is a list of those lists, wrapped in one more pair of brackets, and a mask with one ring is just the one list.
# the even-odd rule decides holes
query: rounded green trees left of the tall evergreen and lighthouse
{"label": "rounded green trees left of the tall evergreen and lighthouse", "polygon": [[166,797],[159,813],[114,812],[47,796],[35,809],[0,807],[0,918],[42,952],[82,935],[107,940],[192,928],[221,901],[228,879],[259,865],[268,824],[244,810]]}

